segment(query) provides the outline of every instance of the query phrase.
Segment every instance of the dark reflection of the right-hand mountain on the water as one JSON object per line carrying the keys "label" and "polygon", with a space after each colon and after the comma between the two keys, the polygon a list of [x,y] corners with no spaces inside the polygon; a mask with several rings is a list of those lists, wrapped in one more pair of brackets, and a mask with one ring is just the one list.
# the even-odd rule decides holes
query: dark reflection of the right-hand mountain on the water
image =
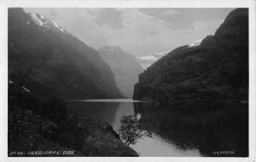
{"label": "dark reflection of the right-hand mountain on the water", "polygon": [[198,148],[203,156],[248,155],[247,103],[134,103],[134,107],[148,129],[178,149]]}

